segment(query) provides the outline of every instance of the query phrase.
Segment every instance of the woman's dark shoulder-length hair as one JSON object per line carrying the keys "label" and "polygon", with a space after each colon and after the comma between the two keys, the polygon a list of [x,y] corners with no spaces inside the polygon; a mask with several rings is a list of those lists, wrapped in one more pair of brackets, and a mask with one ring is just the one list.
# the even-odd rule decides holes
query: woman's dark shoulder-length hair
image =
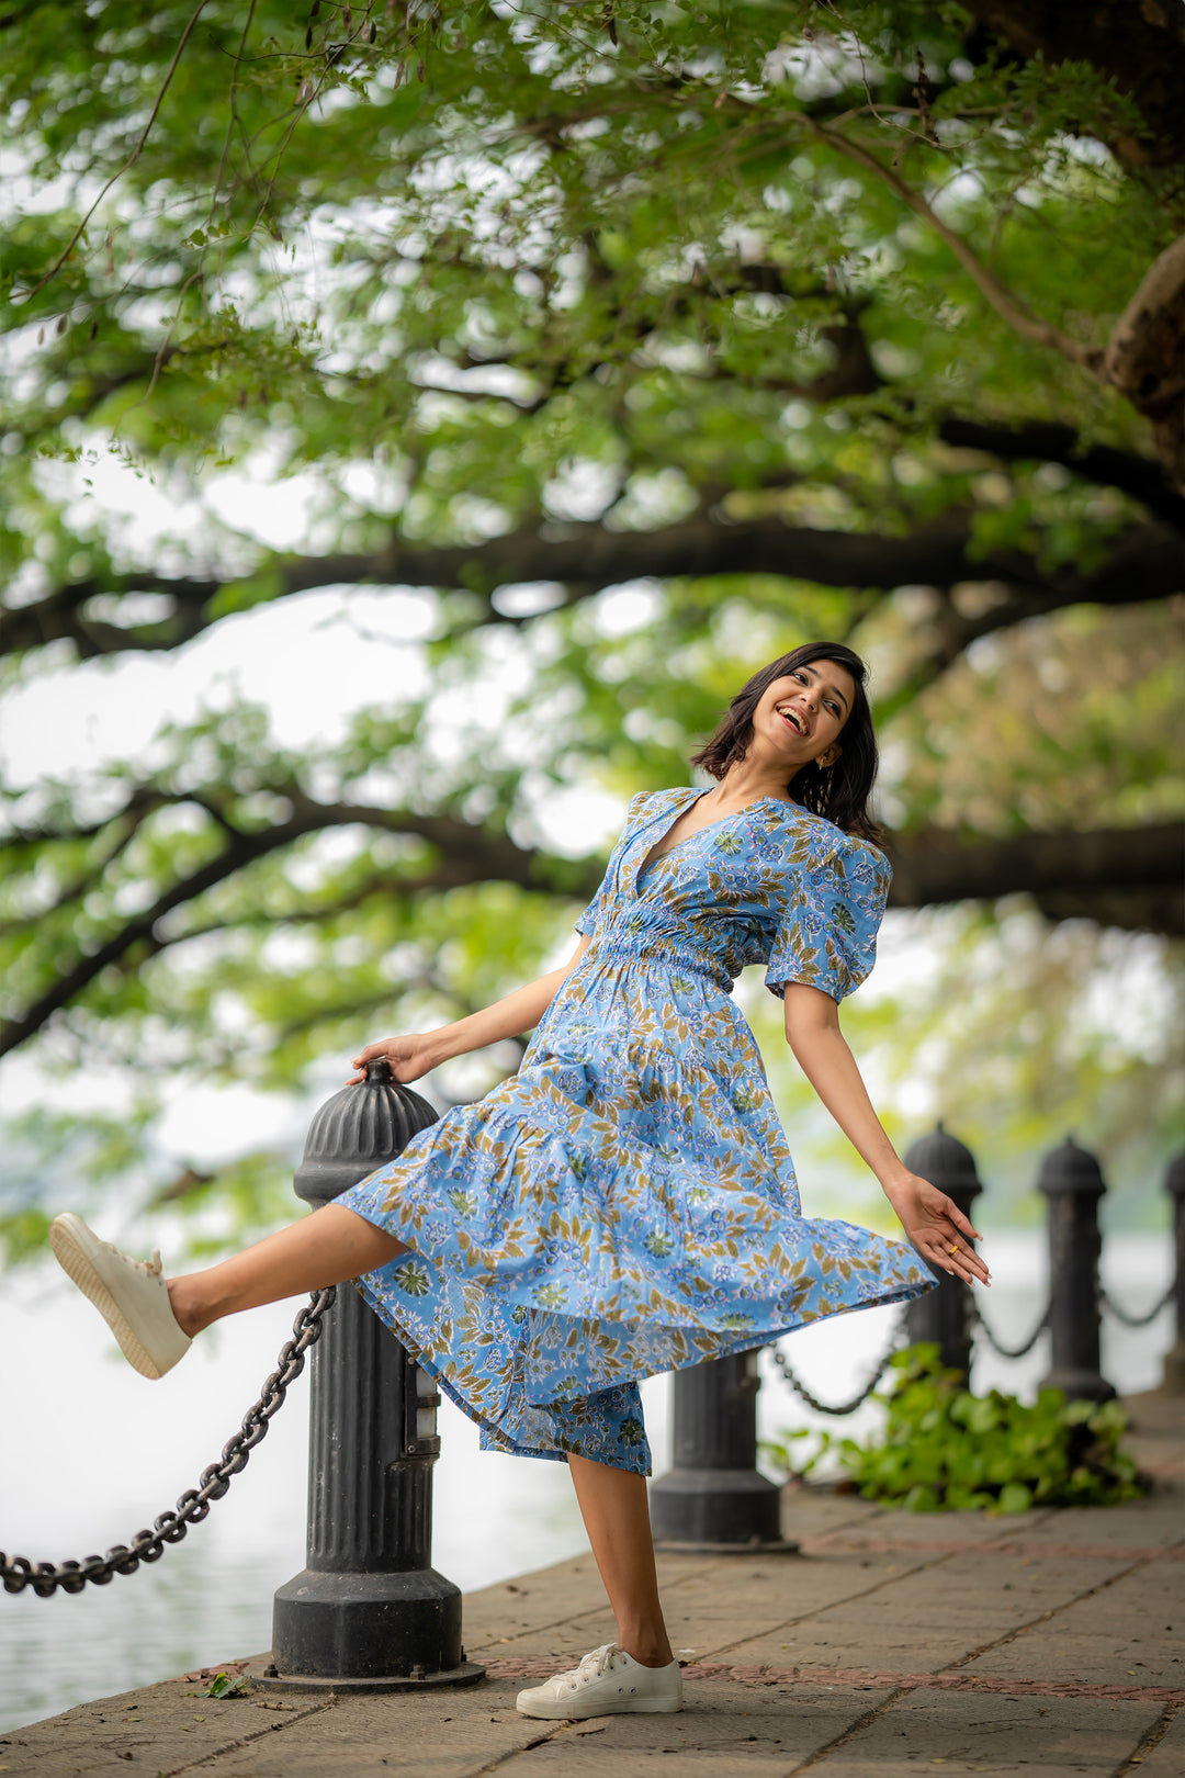
{"label": "woman's dark shoulder-length hair", "polygon": [[858,834],[860,839],[879,845],[881,830],[869,814],[878,765],[872,711],[865,692],[869,669],[855,649],[842,642],[803,642],[801,647],[780,654],[776,661],[755,672],[732,699],[711,741],[695,754],[691,765],[704,766],[714,779],[721,779],[734,761],[744,759],[753,738],[753,711],[773,681],[785,679],[796,667],[810,667],[812,661],[835,661],[851,674],[856,692],[840,733],[839,759],[823,772],[814,761],[803,766],[787,784],[787,797],[812,814],[835,821],[846,834]]}

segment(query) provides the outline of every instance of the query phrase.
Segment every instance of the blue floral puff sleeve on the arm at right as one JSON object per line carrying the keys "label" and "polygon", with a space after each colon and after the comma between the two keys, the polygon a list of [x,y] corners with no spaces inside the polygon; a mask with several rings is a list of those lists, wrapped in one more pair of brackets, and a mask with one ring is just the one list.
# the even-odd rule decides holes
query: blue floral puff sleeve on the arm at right
{"label": "blue floral puff sleeve on the arm at right", "polygon": [[876,933],[892,871],[863,841],[846,841],[796,877],[769,948],[766,987],[782,999],[803,981],[842,1001],[876,962]]}

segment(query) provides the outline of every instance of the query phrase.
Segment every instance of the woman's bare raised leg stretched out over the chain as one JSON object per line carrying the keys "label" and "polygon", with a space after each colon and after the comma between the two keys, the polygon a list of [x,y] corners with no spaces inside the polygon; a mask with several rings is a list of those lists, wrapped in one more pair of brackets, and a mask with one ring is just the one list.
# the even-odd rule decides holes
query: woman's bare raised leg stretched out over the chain
{"label": "woman's bare raised leg stretched out over the chain", "polygon": [[240,1309],[304,1296],[375,1271],[407,1248],[341,1204],[325,1204],[208,1271],[169,1280],[179,1326],[194,1335]]}

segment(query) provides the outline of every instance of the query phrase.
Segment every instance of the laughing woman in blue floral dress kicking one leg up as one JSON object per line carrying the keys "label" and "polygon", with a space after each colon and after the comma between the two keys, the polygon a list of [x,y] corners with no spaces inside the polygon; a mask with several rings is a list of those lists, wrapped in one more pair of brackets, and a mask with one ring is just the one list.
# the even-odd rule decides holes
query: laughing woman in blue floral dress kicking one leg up
{"label": "laughing woman in blue floral dress kicking one leg up", "polygon": [[[526,1716],[677,1710],[638,1380],[821,1316],[917,1296],[897,1241],[803,1218],[732,980],[764,962],[803,1072],[927,1266],[988,1282],[963,1213],[894,1154],[839,1028],[872,967],[888,866],[876,741],[851,649],[750,679],[696,756],[709,791],[634,797],[561,969],[439,1031],[370,1044],[416,1081],[535,1026],[515,1076],[398,1161],[258,1246],[165,1284],[75,1216],[53,1252],[124,1353],[160,1376],[222,1316],[357,1278],[485,1447],[567,1460],[616,1643],[524,1691]],[[355,1072],[354,1081],[364,1079]]]}

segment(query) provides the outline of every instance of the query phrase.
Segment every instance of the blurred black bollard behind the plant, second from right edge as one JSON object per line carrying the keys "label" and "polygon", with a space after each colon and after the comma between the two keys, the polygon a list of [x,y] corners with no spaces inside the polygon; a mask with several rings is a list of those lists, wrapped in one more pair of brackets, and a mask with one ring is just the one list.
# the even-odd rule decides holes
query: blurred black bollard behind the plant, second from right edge
{"label": "blurred black bollard behind the plant, second from right edge", "polygon": [[1066,1136],[1052,1149],[1038,1177],[1050,1218],[1050,1339],[1054,1369],[1043,1389],[1061,1389],[1068,1401],[1110,1401],[1114,1389],[1098,1367],[1098,1205],[1107,1191],[1093,1154]]}

